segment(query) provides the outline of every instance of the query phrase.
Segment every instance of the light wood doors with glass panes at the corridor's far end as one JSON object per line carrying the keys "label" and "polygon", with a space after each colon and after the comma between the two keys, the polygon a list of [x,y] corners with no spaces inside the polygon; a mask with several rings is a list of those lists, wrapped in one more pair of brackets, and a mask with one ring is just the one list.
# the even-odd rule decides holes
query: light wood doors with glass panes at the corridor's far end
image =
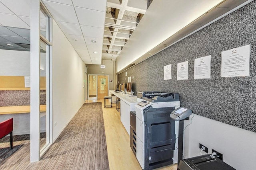
{"label": "light wood doors with glass panes at the corridor's far end", "polygon": [[88,76],[88,99],[104,99],[108,96],[108,75]]}

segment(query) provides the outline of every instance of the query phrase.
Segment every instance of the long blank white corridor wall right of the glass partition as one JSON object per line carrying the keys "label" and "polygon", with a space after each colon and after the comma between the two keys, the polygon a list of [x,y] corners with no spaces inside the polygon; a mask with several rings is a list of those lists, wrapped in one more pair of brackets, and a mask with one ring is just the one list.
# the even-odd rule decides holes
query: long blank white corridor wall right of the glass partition
{"label": "long blank white corridor wall right of the glass partition", "polygon": [[53,21],[54,141],[84,103],[84,63]]}

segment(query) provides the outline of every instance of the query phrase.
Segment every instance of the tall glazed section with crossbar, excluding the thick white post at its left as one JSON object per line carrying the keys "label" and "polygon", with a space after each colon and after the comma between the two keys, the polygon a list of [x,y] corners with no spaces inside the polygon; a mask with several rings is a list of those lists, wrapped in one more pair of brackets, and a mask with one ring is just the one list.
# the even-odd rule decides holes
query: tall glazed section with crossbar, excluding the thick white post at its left
{"label": "tall glazed section with crossbar, excluding the thick white post at its left", "polygon": [[[47,150],[52,140],[50,134],[52,134],[52,108],[50,97],[52,91],[50,89],[51,81],[51,23],[50,14],[46,8],[41,4],[40,6],[40,121],[39,121],[39,133],[40,133],[40,156]],[[43,108],[43,109],[41,109]],[[45,109],[44,109],[45,108]]]}

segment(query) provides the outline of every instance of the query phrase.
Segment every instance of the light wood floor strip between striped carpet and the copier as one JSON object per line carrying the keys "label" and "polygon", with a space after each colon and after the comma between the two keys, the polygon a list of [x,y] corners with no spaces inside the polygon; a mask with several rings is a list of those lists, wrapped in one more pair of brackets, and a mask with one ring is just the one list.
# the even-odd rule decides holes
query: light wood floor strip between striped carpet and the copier
{"label": "light wood floor strip between striped carpet and the copier", "polygon": [[[141,170],[136,156],[130,148],[130,137],[120,121],[120,112],[116,105],[104,108],[104,100],[86,100],[86,102],[102,102],[108,161],[110,170]],[[157,168],[156,170],[176,170],[177,164]]]}

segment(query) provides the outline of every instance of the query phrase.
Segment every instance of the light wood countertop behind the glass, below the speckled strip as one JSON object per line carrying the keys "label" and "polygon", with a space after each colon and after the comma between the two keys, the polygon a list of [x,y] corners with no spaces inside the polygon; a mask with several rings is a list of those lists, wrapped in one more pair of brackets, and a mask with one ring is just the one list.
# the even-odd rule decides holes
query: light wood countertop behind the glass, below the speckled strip
{"label": "light wood countertop behind the glass, below the speckled strip", "polygon": [[[46,111],[46,105],[40,105],[40,112]],[[0,115],[30,113],[30,106],[6,106],[0,107]]]}

